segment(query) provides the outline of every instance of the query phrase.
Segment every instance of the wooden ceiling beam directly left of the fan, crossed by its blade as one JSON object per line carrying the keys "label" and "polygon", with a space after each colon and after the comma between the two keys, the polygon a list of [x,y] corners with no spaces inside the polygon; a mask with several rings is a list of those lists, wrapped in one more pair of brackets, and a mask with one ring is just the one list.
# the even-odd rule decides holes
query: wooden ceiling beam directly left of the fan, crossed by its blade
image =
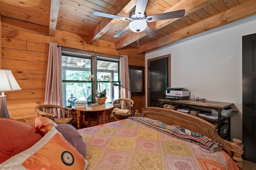
{"label": "wooden ceiling beam directly left of the fan, crossed by its blade", "polygon": [[[136,5],[136,0],[122,0],[117,1],[116,4],[109,10],[109,14],[125,16],[134,6]],[[117,19],[112,18],[102,18],[96,27],[88,35],[88,44],[93,44],[97,39],[99,39],[104,33],[108,31],[116,22]]]}

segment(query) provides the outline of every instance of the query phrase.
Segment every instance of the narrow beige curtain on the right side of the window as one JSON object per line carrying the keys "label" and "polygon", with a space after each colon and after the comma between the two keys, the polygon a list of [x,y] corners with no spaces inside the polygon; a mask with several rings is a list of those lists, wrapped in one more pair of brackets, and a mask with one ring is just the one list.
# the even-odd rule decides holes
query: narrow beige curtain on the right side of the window
{"label": "narrow beige curtain on the right side of the window", "polygon": [[[120,67],[121,67],[121,85],[125,88],[130,89],[130,76],[129,76],[129,65],[128,65],[128,56],[120,56]],[[121,98],[131,98],[130,90],[127,90],[121,86]]]}

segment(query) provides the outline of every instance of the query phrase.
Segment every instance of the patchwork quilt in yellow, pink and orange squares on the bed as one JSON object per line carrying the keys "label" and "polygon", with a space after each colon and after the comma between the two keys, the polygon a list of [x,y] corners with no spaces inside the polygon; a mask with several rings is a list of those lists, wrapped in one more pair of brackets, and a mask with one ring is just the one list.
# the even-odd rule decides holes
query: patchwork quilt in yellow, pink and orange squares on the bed
{"label": "patchwork quilt in yellow, pink and orange squares on the bed", "polygon": [[[178,132],[178,137],[175,137],[164,132],[166,128],[163,126],[166,125],[154,120],[124,119],[79,129],[86,143],[87,169],[238,170],[226,152],[208,148],[215,145],[214,141],[201,139],[199,141],[206,144],[202,146],[195,143],[197,139],[190,141],[180,138],[191,138],[191,135],[188,137]],[[177,128],[184,132],[184,129]]]}

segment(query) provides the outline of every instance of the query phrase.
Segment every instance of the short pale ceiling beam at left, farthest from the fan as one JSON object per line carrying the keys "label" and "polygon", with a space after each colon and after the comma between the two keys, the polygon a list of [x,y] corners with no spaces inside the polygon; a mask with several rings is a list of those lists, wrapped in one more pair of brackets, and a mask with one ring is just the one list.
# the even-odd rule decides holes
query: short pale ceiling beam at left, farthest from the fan
{"label": "short pale ceiling beam at left, farthest from the fan", "polygon": [[51,37],[55,36],[59,10],[60,10],[60,0],[51,0],[50,24],[49,24],[49,36]]}

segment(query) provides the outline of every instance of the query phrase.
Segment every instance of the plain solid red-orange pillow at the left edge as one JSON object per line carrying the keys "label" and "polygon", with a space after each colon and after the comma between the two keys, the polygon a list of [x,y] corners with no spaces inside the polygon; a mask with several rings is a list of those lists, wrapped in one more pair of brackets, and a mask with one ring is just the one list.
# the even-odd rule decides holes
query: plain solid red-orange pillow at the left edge
{"label": "plain solid red-orange pillow at the left edge", "polygon": [[0,164],[32,147],[42,139],[34,126],[9,118],[0,118]]}

